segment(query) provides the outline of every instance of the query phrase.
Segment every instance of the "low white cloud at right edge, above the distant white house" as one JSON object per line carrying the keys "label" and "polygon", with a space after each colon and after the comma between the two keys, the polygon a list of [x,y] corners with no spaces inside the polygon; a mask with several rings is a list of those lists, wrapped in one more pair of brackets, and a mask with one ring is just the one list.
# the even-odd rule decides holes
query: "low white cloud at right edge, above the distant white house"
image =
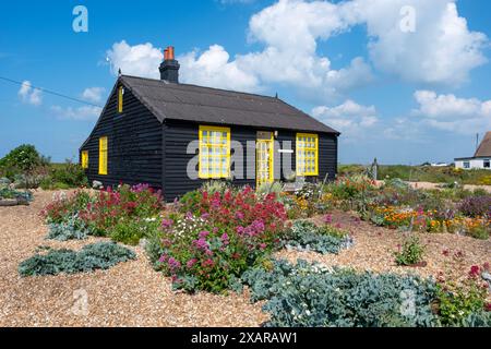
{"label": "low white cloud at right edge, above the distant white house", "polygon": [[412,116],[423,124],[462,134],[491,130],[491,100],[438,95],[432,91],[417,91],[415,98],[419,108]]}

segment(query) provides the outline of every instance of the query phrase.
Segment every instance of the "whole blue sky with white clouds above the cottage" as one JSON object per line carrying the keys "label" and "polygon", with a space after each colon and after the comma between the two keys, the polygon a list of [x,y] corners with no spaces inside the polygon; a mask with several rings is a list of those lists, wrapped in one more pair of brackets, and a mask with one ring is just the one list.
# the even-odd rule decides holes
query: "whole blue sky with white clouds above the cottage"
{"label": "whole blue sky with white clouds above the cottage", "polygon": [[0,156],[75,159],[115,71],[155,77],[173,45],[183,82],[278,93],[340,130],[342,163],[451,161],[491,130],[490,20],[486,0],[5,2],[0,76],[24,85],[0,80]]}

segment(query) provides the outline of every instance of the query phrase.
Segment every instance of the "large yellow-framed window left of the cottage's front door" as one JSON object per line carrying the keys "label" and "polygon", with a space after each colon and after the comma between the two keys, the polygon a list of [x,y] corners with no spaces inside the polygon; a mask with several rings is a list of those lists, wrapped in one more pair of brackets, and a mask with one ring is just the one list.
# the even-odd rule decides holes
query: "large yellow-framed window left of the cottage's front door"
{"label": "large yellow-framed window left of the cottage's front door", "polygon": [[230,177],[230,128],[200,125],[199,177]]}

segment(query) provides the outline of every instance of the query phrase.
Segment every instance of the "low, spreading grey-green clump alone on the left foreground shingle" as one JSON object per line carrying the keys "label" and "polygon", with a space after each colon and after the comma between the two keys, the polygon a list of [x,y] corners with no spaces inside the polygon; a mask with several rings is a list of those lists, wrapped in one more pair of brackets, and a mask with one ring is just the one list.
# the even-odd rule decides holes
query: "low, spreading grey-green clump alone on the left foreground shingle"
{"label": "low, spreading grey-green clump alone on the left foreground shingle", "polygon": [[26,277],[93,272],[108,269],[134,258],[136,255],[133,251],[115,242],[97,242],[84,246],[80,252],[49,249],[46,254],[36,253],[19,265],[19,274]]}

